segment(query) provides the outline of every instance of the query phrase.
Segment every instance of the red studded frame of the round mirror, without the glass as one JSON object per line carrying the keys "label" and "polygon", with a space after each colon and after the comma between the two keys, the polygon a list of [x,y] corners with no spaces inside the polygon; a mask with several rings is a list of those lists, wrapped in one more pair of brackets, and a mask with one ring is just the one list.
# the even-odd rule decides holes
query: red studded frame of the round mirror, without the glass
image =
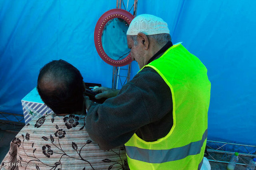
{"label": "red studded frame of the round mirror, without the glass", "polygon": [[98,20],[95,26],[94,44],[98,54],[100,55],[102,60],[104,60],[104,62],[107,62],[107,64],[110,64],[111,66],[121,67],[132,62],[132,57],[130,56],[130,53],[122,60],[113,60],[105,53],[102,46],[102,39],[101,39],[102,31],[104,30],[104,27],[107,24],[107,22],[113,18],[121,18],[130,25],[130,22],[133,20],[134,16],[130,12],[123,9],[111,9],[105,12],[100,17],[100,19]]}

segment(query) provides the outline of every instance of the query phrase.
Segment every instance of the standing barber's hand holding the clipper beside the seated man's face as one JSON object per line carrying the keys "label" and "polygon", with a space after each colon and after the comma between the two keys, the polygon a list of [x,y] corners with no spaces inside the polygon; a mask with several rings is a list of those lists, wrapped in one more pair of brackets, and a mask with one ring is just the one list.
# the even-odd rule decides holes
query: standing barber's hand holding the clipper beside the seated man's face
{"label": "standing barber's hand holding the clipper beside the seated man's face", "polygon": [[99,93],[95,96],[95,99],[101,99],[104,97],[111,98],[111,97],[116,96],[119,92],[119,90],[117,90],[117,89],[110,89],[108,87],[98,87],[92,91]]}

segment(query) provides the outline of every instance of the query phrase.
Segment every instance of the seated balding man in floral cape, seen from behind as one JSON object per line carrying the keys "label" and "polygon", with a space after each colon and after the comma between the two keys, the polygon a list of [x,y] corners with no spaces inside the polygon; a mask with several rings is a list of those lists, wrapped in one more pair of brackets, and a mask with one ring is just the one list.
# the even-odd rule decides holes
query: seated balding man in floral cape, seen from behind
{"label": "seated balding man in floral cape, seen from behind", "polygon": [[85,85],[78,69],[63,60],[46,64],[40,69],[37,90],[54,113],[21,129],[1,170],[128,168],[124,147],[102,151],[85,130]]}

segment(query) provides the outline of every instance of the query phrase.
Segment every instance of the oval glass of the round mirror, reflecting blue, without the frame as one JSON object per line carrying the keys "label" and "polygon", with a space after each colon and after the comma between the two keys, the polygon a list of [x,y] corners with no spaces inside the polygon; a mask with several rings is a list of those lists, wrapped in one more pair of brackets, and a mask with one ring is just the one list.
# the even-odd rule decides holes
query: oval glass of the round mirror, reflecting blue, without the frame
{"label": "oval glass of the round mirror, reflecting blue, without the frame", "polygon": [[113,60],[122,60],[129,53],[126,32],[129,24],[121,18],[113,18],[102,31],[102,46],[105,53]]}

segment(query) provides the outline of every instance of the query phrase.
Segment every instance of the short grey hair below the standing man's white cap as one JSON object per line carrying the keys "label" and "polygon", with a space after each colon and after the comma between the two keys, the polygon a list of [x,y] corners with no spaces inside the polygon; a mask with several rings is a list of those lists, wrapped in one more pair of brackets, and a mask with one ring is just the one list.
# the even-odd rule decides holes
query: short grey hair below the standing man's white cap
{"label": "short grey hair below the standing man's white cap", "polygon": [[[135,46],[138,45],[137,35],[130,35],[130,37],[133,39],[133,43]],[[154,35],[147,35],[147,37],[154,39],[159,45],[164,45],[168,41],[171,41],[171,35],[170,34],[154,34]]]}

